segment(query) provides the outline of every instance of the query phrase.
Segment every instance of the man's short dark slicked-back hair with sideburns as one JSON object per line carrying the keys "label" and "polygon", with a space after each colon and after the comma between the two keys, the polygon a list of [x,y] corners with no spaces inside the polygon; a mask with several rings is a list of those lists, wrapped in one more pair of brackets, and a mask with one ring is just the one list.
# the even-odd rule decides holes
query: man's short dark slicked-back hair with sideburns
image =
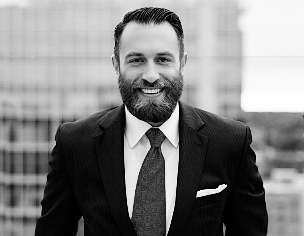
{"label": "man's short dark slicked-back hair with sideburns", "polygon": [[179,42],[179,59],[181,60],[184,55],[184,32],[181,27],[181,22],[179,17],[174,13],[164,8],[157,7],[144,7],[136,9],[134,11],[126,13],[123,17],[123,21],[116,25],[114,30],[114,55],[119,65],[119,41],[123,29],[129,22],[135,22],[139,24],[161,24],[164,22],[169,22],[176,32],[178,42]]}

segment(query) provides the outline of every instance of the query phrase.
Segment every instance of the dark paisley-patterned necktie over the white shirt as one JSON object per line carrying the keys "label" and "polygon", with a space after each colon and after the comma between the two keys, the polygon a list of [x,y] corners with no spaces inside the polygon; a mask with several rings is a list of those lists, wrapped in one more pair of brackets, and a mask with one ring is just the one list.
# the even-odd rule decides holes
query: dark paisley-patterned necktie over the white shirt
{"label": "dark paisley-patterned necktie over the white shirt", "polygon": [[138,175],[131,221],[137,236],[165,236],[165,160],[161,144],[166,136],[157,128],[149,129],[146,136],[151,148]]}

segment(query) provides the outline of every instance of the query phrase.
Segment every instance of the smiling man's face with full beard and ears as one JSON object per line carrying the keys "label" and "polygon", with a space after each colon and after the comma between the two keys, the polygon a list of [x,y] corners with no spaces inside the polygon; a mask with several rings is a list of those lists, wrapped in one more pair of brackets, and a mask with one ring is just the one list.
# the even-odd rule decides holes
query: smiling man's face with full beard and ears
{"label": "smiling man's face with full beard and ears", "polygon": [[142,25],[130,22],[120,38],[118,75],[123,103],[131,114],[149,123],[167,120],[183,89],[186,54],[179,60],[179,42],[165,22]]}

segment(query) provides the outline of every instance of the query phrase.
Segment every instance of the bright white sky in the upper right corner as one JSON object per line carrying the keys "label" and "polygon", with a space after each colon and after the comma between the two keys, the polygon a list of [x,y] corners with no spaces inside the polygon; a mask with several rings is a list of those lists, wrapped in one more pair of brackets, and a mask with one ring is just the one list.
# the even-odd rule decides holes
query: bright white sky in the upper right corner
{"label": "bright white sky in the upper right corner", "polygon": [[304,111],[304,1],[239,0],[243,34],[241,107]]}

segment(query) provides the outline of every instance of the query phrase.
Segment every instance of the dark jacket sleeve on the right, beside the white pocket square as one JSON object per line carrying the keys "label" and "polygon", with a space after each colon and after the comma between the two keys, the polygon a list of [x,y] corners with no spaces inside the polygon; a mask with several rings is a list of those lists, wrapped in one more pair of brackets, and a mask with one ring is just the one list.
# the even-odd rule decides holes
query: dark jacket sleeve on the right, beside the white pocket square
{"label": "dark jacket sleeve on the right, beside the white pocket square", "polygon": [[265,190],[251,142],[251,131],[246,127],[243,157],[223,215],[226,236],[267,234]]}

